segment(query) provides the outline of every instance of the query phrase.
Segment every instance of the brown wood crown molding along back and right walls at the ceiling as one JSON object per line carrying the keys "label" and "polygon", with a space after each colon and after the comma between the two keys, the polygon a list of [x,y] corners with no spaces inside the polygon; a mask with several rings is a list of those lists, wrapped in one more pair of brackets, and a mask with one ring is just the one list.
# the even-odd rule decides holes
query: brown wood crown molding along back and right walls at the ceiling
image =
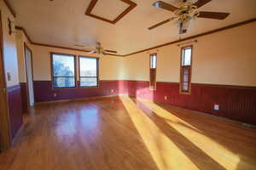
{"label": "brown wood crown molding along back and right walls at the ceiling", "polygon": [[[127,57],[127,56],[130,56],[130,55],[133,55],[133,54],[139,54],[139,53],[147,52],[148,50],[152,50],[152,49],[156,49],[156,48],[162,48],[162,47],[165,47],[165,46],[168,46],[168,45],[171,45],[171,44],[175,44],[175,43],[178,43],[178,42],[183,42],[183,41],[186,41],[186,40],[189,40],[189,39],[193,39],[193,38],[196,38],[196,37],[207,36],[207,35],[209,35],[209,34],[212,34],[212,33],[218,32],[218,31],[225,31],[225,30],[228,30],[228,29],[237,27],[237,26],[243,26],[243,25],[246,25],[246,24],[255,22],[255,21],[256,21],[256,18],[253,18],[253,19],[251,19],[251,20],[245,20],[245,21],[238,22],[238,23],[233,24],[233,25],[230,25],[230,26],[224,26],[224,27],[218,28],[218,29],[216,29],[216,30],[203,32],[203,33],[201,33],[201,34],[197,34],[197,35],[192,36],[192,37],[186,37],[186,38],[183,38],[183,39],[180,39],[180,40],[176,40],[176,41],[173,41],[173,42],[167,42],[167,43],[164,43],[164,44],[160,44],[160,45],[154,46],[154,47],[152,47],[152,48],[147,48],[147,49],[139,50],[139,51],[133,52],[133,53],[131,53],[131,54],[109,54],[109,55],[113,55],[113,56],[117,56],[117,57]],[[76,51],[88,52],[88,51],[86,51],[86,50],[84,50],[84,49],[67,48],[67,47],[55,46],[55,45],[50,45],[50,44],[32,42],[32,39],[28,36],[26,30],[25,30],[23,27],[21,27],[21,26],[15,26],[15,28],[16,28],[17,30],[23,31],[24,34],[26,35],[27,39],[29,40],[29,42],[31,42],[32,45],[44,46],[44,47],[49,47],[49,48],[63,48],[63,49],[69,49],[69,50],[76,50]]]}

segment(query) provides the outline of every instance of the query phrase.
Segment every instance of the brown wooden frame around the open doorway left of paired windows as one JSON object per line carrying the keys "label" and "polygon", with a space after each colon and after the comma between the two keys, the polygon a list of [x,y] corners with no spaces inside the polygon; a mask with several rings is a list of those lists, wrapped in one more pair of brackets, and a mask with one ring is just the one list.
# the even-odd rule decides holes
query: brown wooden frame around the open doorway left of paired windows
{"label": "brown wooden frame around the open doorway left of paired windows", "polygon": [[[25,70],[26,70],[26,101],[27,101],[27,111],[28,114],[30,113],[30,94],[29,94],[29,88],[28,88],[28,77],[27,77],[27,65],[26,65],[26,48],[30,51],[31,53],[31,68],[32,68],[32,82],[34,82],[34,74],[33,74],[33,54],[32,54],[32,49],[28,47],[26,42],[24,42],[24,61],[25,61]],[[33,92],[34,92],[34,86],[33,86]],[[33,97],[35,100],[35,94],[33,93]],[[35,103],[35,102],[34,102]]]}

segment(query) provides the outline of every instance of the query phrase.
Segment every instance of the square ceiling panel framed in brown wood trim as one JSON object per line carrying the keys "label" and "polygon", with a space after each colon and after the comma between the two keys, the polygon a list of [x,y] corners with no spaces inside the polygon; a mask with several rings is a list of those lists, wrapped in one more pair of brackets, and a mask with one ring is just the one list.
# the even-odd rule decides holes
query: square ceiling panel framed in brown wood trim
{"label": "square ceiling panel framed in brown wood trim", "polygon": [[115,24],[136,6],[131,0],[91,0],[85,14]]}

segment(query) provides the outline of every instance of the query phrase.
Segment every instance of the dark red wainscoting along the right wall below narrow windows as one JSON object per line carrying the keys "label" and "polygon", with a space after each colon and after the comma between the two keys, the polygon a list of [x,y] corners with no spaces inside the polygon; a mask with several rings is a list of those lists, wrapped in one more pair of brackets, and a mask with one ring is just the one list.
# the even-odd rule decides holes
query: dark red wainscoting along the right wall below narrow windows
{"label": "dark red wainscoting along the right wall below narrow windows", "polygon": [[[256,125],[255,87],[192,83],[191,94],[186,95],[179,94],[177,82],[157,82],[154,91],[148,88],[149,82],[125,81],[124,83],[124,87],[127,87],[127,94],[134,97]],[[214,111],[214,104],[219,105],[218,111]]]}

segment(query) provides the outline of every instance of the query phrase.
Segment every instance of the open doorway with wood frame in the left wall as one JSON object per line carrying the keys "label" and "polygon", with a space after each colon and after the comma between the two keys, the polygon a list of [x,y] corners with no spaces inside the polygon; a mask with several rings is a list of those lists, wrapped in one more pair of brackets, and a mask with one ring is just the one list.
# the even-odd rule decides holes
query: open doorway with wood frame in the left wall
{"label": "open doorway with wood frame in the left wall", "polygon": [[25,42],[24,42],[24,53],[25,53],[25,64],[26,64],[27,101],[28,101],[28,107],[31,107],[35,103],[34,87],[33,87],[33,71],[32,71],[32,50],[28,48]]}

